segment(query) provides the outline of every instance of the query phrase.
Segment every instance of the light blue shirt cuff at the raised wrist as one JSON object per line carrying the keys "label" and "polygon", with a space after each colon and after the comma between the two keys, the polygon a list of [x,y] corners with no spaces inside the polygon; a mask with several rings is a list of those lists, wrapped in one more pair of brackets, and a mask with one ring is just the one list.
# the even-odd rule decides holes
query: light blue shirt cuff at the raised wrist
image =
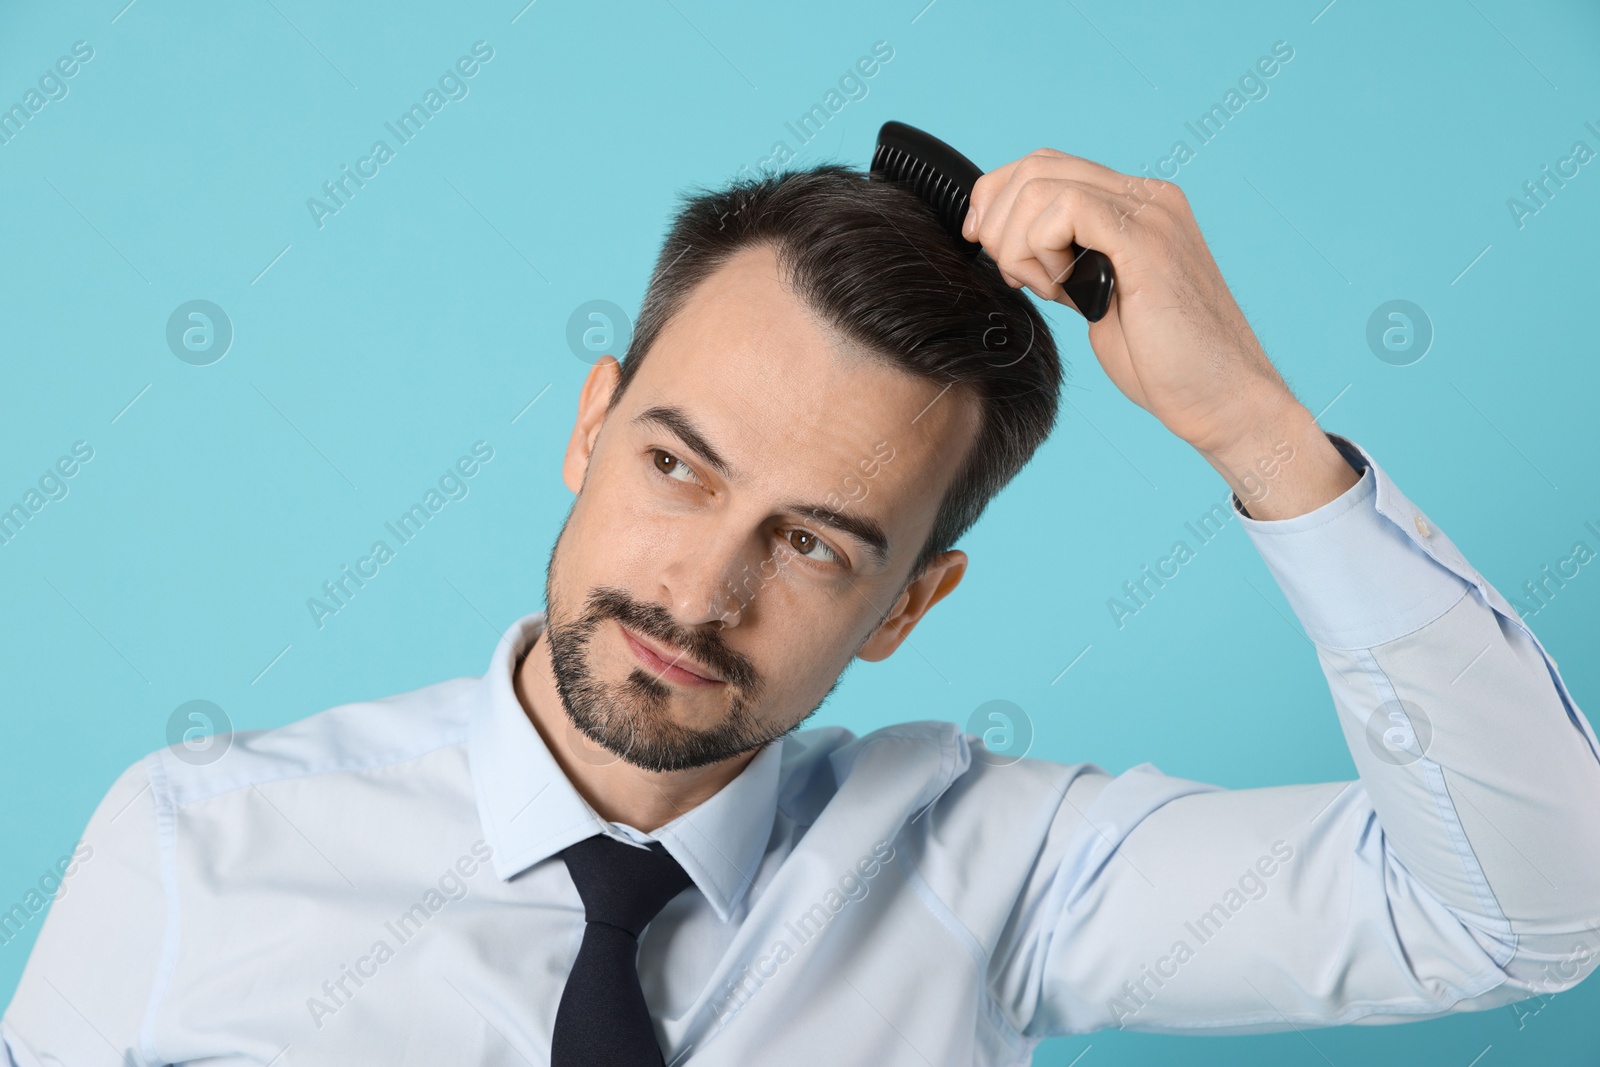
{"label": "light blue shirt cuff at the raised wrist", "polygon": [[1232,498],[1312,641],[1374,648],[1427,625],[1474,587],[1499,598],[1366,450],[1326,437],[1362,475],[1334,499],[1293,518],[1258,520]]}

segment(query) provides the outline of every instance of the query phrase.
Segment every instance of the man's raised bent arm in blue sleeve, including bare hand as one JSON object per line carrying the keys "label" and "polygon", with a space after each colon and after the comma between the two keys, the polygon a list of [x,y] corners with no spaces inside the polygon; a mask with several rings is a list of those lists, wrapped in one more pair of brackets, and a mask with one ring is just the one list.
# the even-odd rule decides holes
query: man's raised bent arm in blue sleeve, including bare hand
{"label": "man's raised bent arm in blue sleeve, including bare hand", "polygon": [[966,235],[1013,285],[1069,306],[1062,250],[1110,258],[1118,290],[1088,330],[1094,354],[1234,488],[1360,773],[1222,790],[1144,765],[1058,782],[994,945],[990,992],[1013,1025],[1397,1022],[1589,974],[1594,729],[1510,605],[1293,398],[1178,189],[1045,149],[978,182]]}

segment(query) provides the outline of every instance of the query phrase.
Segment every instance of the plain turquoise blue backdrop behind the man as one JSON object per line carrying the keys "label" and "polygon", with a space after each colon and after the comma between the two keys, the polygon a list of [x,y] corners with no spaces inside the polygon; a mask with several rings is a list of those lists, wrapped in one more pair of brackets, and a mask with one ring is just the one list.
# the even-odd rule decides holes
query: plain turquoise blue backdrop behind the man
{"label": "plain turquoise blue backdrop behind the man", "polygon": [[[778,139],[798,163],[866,165],[899,118],[986,168],[1051,146],[1138,171],[1195,146],[1184,123],[1286,40],[1270,94],[1178,178],[1267,350],[1314,411],[1338,397],[1323,426],[1504,593],[1574,541],[1600,547],[1584,528],[1600,526],[1600,163],[1522,229],[1506,205],[1574,141],[1600,149],[1592,5],[522,2],[0,14],[0,106],[74,42],[94,48],[0,146],[0,507],[74,442],[94,448],[0,547],[0,904],[70,849],[186,701],[262,728],[480,673],[541,606],[570,502],[558,461],[587,363],[568,317],[590,299],[637,310],[675,194]],[[470,94],[318,230],[307,197],[477,40],[494,58]],[[894,58],[867,98],[798,146],[784,123],[878,40]],[[1410,366],[1365,341],[1395,298],[1435,330]],[[235,328],[210,366],[165,342],[190,299]],[[1112,624],[1107,598],[1226,486],[1054,310],[1074,365],[1061,429],[966,537],[971,573],[914,648],[851,669],[814,721],[965,721],[1010,699],[1034,753],[1062,761],[1232,787],[1354,777],[1317,661],[1237,523]],[[307,597],[477,440],[494,459],[470,496],[318,630]],[[1590,705],[1597,608],[1592,563],[1531,619]],[[35,933],[0,949],[0,1000]],[[1261,1038],[1098,1033],[1037,1062],[1594,1062],[1600,984],[1518,1021],[1538,1003]]]}

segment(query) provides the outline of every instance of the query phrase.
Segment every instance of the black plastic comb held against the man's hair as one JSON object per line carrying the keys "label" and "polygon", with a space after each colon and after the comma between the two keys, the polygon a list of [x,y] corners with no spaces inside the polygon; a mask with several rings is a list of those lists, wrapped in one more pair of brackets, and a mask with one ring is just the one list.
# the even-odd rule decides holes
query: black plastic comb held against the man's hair
{"label": "black plastic comb held against the man's hair", "polygon": [[[878,146],[872,152],[872,178],[910,187],[939,216],[939,222],[958,248],[968,254],[989,258],[982,245],[962,237],[973,186],[982,174],[976,163],[931,133],[902,122],[886,122],[878,130]],[[1117,285],[1110,259],[1104,253],[1078,245],[1069,245],[1067,251],[1072,253],[1072,275],[1061,286],[1086,320],[1099,322],[1110,307],[1110,294]]]}

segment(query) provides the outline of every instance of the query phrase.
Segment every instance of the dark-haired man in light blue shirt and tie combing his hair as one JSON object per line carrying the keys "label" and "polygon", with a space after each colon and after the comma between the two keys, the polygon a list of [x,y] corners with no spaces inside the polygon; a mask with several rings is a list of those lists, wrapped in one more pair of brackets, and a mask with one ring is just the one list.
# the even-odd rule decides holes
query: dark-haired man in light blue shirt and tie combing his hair
{"label": "dark-haired man in light blue shirt and tie combing his hair", "polygon": [[[1594,731],[1290,394],[1179,190],[1046,149],[979,181],[965,232],[994,262],[838,166],[691,198],[626,366],[584,382],[546,611],[482,678],[130,768],[5,1016],[13,1062],[1022,1064],[1048,1035],[1581,981]],[[957,587],[954,542],[1048,435],[1061,368],[1019,288],[1069,302],[1074,240],[1118,278],[1101,366],[1235,490],[1358,781],[795,733]]]}

